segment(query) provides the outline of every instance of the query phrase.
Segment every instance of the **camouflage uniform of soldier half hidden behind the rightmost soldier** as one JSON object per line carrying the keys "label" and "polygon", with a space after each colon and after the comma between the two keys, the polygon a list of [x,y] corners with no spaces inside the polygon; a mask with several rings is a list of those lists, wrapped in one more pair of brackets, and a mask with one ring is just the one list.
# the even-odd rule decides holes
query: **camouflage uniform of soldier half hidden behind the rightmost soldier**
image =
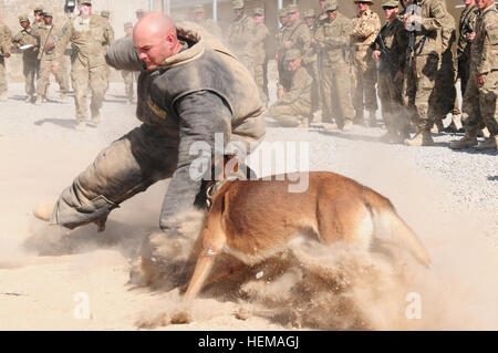
{"label": "camouflage uniform of soldier half hidden behind the rightmost soldier", "polygon": [[470,48],[471,43],[467,41],[467,35],[475,31],[476,21],[479,14],[477,6],[468,7],[461,11],[458,24],[458,77],[460,79],[461,95],[465,95],[467,82],[470,74]]}

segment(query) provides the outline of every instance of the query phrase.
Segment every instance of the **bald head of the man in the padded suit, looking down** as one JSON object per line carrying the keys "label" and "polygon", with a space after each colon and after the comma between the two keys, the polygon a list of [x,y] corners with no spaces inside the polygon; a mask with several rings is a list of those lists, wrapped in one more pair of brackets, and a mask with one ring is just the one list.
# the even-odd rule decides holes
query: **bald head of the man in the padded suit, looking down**
{"label": "bald head of the man in the padded suit, looking down", "polygon": [[162,12],[144,15],[133,29],[133,42],[148,70],[155,70],[167,58],[181,50],[173,20]]}

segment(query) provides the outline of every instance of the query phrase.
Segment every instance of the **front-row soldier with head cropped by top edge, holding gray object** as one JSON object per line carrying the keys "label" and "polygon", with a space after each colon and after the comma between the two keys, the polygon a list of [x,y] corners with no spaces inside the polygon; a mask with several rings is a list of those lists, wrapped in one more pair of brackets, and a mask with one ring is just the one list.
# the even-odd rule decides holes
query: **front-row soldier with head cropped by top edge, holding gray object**
{"label": "front-row soldier with head cropped by top edge, holding gray object", "polygon": [[[417,127],[408,146],[434,145],[430,128],[434,125],[434,85],[439,69],[442,39],[440,31],[447,21],[447,11],[439,0],[422,0],[413,6],[413,0],[403,0],[405,11],[403,24],[408,33],[407,63],[403,82],[403,100],[408,115]],[[406,10],[408,9],[408,10]],[[413,13],[412,9],[416,10]]]}

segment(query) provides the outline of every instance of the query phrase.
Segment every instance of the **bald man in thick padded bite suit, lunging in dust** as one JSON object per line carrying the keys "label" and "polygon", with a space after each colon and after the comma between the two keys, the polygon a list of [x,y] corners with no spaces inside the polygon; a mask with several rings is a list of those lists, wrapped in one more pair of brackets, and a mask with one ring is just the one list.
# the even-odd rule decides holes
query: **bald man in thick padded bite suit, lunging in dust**
{"label": "bald man in thick padded bite suit, lunging in dust", "polygon": [[204,155],[210,165],[215,134],[221,134],[217,141],[222,136],[224,145],[239,142],[241,147],[256,147],[264,136],[258,87],[212,37],[176,28],[159,12],[135,25],[133,40],[112,44],[106,61],[117,70],[141,71],[136,116],[143,124],[104,149],[54,208],[41,205],[35,216],[69,229],[94,222],[103,230],[111,210],[172,178],[159,226],[167,235],[180,235],[179,216],[205,204],[205,177],[190,173],[199,167],[198,147],[210,148]]}

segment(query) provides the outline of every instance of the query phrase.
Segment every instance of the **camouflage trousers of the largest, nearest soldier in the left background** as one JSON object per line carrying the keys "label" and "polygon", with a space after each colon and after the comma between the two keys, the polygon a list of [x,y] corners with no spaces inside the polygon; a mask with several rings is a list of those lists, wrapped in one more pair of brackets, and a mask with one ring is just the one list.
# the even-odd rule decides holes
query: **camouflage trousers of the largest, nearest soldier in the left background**
{"label": "camouflage trousers of the largest, nearest soldier in the left background", "polygon": [[71,80],[76,105],[76,118],[79,121],[86,121],[87,118],[89,108],[86,106],[86,96],[89,91],[92,91],[90,103],[92,117],[98,115],[104,101],[105,90],[107,89],[106,65],[86,68],[76,60],[71,68]]}

